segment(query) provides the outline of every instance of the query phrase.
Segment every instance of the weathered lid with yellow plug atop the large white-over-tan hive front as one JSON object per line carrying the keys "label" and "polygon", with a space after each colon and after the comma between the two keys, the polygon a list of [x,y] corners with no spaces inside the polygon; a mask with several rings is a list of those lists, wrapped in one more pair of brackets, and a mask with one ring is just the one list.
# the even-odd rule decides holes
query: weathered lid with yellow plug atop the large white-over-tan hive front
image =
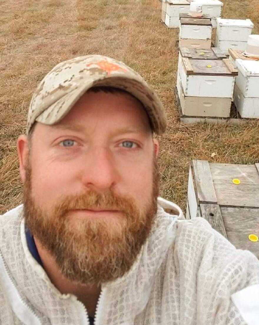
{"label": "weathered lid with yellow plug atop the large white-over-tan hive front", "polygon": [[235,69],[229,59],[222,60],[199,60],[182,58],[182,64],[187,75],[215,75],[215,76],[237,76]]}

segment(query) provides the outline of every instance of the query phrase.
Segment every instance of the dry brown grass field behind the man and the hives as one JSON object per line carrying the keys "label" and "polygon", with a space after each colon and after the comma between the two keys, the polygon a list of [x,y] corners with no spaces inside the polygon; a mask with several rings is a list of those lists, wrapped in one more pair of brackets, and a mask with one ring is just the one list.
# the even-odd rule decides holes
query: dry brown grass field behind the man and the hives
{"label": "dry brown grass field behind the man and the hives", "polygon": [[[222,0],[224,18],[251,18],[259,33],[259,0]],[[160,22],[159,0],[9,0],[0,2],[0,213],[21,202],[16,139],[25,132],[32,93],[58,62],[103,54],[126,62],[161,97],[168,128],[160,141],[161,195],[185,209],[191,159],[259,161],[259,123],[242,126],[178,120],[178,30]],[[215,153],[215,155],[212,155]]]}

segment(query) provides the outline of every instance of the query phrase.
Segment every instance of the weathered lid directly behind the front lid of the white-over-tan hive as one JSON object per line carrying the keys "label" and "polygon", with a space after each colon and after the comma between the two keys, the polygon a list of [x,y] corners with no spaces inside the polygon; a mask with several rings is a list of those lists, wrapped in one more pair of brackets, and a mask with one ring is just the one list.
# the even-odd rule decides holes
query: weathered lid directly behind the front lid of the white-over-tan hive
{"label": "weathered lid directly behind the front lid of the white-over-tan hive", "polygon": [[189,59],[226,59],[226,55],[219,47],[211,47],[207,49],[197,49],[188,47],[179,47],[179,51],[183,58]]}

